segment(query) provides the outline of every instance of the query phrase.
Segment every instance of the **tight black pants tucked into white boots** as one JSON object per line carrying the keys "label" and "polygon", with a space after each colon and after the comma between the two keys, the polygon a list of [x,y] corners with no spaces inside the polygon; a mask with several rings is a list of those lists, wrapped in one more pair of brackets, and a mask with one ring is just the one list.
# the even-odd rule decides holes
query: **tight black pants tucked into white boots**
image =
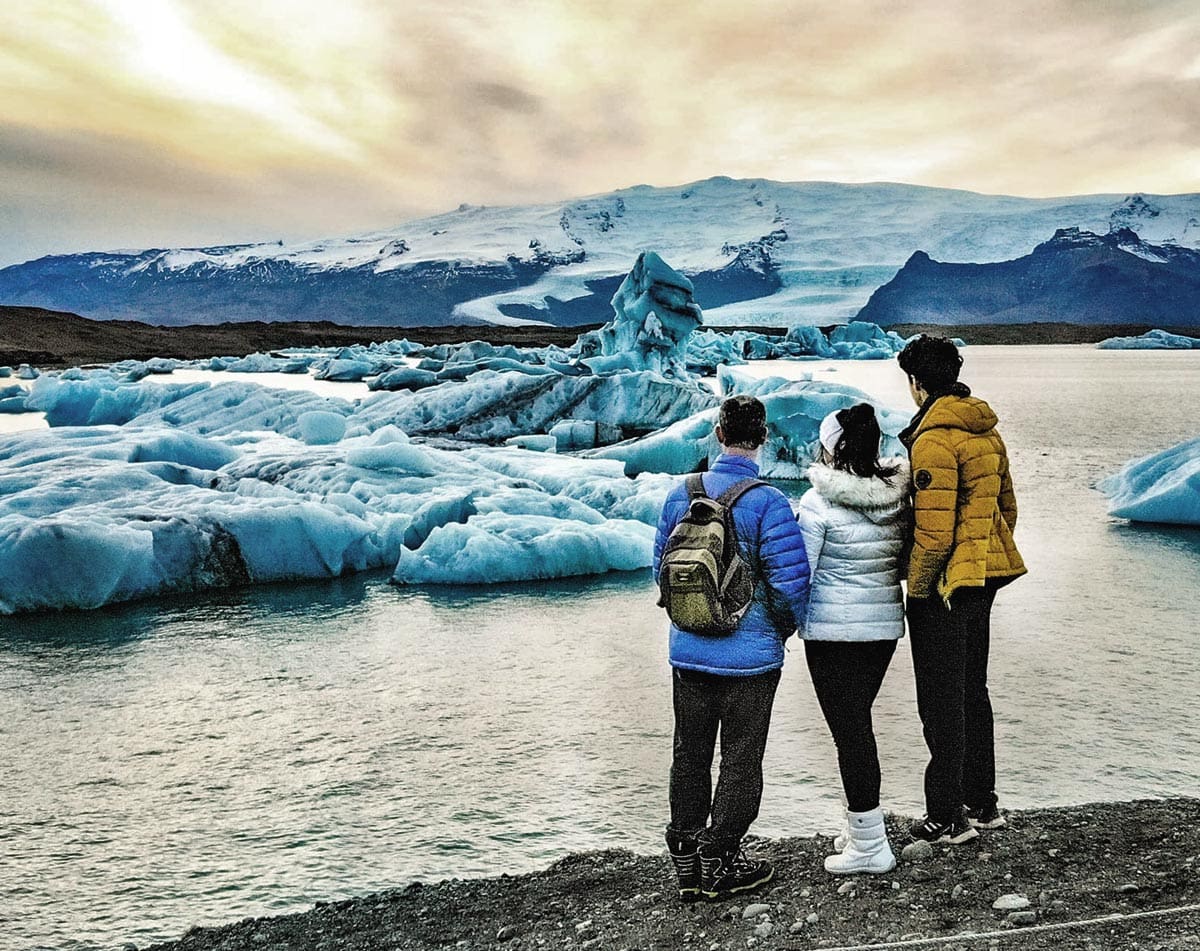
{"label": "tight black pants tucked into white boots", "polygon": [[896,642],[804,641],[812,687],[824,713],[851,812],[880,805],[880,754],[871,725],[871,705],[880,693]]}

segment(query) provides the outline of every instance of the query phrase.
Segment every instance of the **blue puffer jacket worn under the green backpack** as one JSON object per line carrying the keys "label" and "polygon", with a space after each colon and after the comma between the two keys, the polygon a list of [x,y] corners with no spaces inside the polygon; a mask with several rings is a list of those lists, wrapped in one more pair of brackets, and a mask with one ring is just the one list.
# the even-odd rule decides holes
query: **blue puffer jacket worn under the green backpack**
{"label": "blue puffer jacket worn under the green backpack", "polygon": [[[758,477],[758,466],[746,456],[722,453],[704,473],[704,491],[716,498],[743,479]],[[679,483],[662,504],[654,538],[654,578],[667,537],[688,513],[688,488]],[[751,489],[733,506],[733,526],[742,550],[756,568],[754,603],[737,630],[704,636],[671,626],[671,665],[748,677],[784,665],[784,640],[805,616],[809,603],[809,561],[804,537],[787,498],[764,485]]]}

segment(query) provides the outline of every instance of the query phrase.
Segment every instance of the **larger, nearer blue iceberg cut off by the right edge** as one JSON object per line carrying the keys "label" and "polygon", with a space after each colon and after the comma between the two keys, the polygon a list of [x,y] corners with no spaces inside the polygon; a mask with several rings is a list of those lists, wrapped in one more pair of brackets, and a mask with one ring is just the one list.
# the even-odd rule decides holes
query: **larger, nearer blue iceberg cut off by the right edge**
{"label": "larger, nearer blue iceberg cut off by the right edge", "polygon": [[1169,525],[1200,525],[1200,438],[1136,459],[1099,484],[1109,514]]}

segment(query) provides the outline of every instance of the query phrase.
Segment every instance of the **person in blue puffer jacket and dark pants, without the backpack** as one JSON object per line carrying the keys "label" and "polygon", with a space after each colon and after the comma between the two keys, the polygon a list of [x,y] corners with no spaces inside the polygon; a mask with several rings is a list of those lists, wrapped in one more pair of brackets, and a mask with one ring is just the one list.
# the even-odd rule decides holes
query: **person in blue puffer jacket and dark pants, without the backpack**
{"label": "person in blue puffer jacket and dark pants, without the backpack", "polygon": [[[758,477],[767,441],[767,411],[752,396],[721,403],[716,424],[721,454],[703,474],[704,492]],[[686,514],[686,486],[667,496],[654,539],[654,578],[672,530]],[[716,899],[770,881],[769,862],[748,856],[742,838],[758,815],[762,756],[770,710],[784,665],[784,641],[803,622],[809,598],[804,538],[787,498],[760,485],[733,506],[733,525],[755,573],[754,600],[733,633],[694,634],[671,626],[674,746],[667,849],[684,901]],[[721,738],[720,771],[712,789],[713,754]]]}

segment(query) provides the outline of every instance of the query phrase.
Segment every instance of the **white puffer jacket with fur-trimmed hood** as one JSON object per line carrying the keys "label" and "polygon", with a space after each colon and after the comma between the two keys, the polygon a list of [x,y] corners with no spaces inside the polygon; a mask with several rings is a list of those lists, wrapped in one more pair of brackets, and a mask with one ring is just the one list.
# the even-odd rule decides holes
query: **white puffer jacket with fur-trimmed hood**
{"label": "white puffer jacket with fur-trimmed hood", "polygon": [[904,636],[904,552],[910,528],[908,463],[887,482],[814,463],[800,498],[800,530],[812,572],[805,640]]}

